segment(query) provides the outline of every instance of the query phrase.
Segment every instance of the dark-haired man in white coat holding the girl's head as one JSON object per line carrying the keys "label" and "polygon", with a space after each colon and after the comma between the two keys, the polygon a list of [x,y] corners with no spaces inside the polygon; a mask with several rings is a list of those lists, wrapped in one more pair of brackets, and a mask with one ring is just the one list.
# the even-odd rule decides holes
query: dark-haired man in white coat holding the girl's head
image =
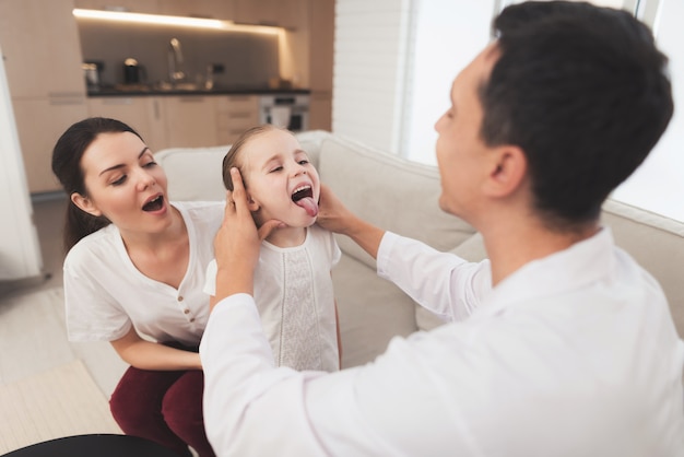
{"label": "dark-haired man in white coat holding the girl's head", "polygon": [[223,300],[200,348],[219,455],[684,455],[684,344],[659,284],[599,221],[670,120],[667,58],[628,13],[588,3],[521,3],[494,26],[436,124],[439,204],[481,232],[487,260],[321,195],[319,223],[450,323],[365,366],[275,368],[251,294],[280,223],[256,230],[234,171],[214,245]]}

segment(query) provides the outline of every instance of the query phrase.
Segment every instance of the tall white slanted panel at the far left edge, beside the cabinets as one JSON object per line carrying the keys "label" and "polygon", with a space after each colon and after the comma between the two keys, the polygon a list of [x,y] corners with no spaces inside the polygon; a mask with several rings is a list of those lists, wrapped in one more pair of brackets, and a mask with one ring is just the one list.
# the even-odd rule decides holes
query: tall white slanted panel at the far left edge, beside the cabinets
{"label": "tall white slanted panel at the far left edge, beside the cabinets", "polygon": [[[40,128],[40,126],[36,126]],[[0,280],[38,277],[40,245],[0,49]]]}

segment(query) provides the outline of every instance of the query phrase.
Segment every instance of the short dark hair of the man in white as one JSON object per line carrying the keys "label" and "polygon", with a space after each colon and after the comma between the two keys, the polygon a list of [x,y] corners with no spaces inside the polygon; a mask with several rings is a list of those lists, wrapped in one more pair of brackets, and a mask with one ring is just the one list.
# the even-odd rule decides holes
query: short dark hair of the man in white
{"label": "short dark hair of the man in white", "polygon": [[589,3],[510,5],[493,28],[500,57],[481,87],[484,141],[524,151],[550,227],[595,221],[672,117],[668,58],[633,15]]}

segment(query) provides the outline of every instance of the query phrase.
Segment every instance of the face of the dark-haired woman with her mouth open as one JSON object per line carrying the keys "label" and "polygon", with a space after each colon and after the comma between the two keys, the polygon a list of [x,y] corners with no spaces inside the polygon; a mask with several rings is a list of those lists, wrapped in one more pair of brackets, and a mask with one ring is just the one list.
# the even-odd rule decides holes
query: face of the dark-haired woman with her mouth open
{"label": "face of the dark-haired woman with her mouth open", "polygon": [[83,211],[104,215],[125,233],[160,233],[170,224],[166,175],[131,132],[101,133],[81,157],[87,196],[72,194]]}

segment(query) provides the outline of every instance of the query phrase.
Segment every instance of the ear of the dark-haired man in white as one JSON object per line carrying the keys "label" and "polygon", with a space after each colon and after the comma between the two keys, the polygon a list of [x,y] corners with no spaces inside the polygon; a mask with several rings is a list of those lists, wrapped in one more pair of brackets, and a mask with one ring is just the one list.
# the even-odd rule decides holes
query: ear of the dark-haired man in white
{"label": "ear of the dark-haired man in white", "polygon": [[522,149],[503,145],[494,152],[485,192],[492,197],[506,197],[516,192],[526,181],[528,160]]}

